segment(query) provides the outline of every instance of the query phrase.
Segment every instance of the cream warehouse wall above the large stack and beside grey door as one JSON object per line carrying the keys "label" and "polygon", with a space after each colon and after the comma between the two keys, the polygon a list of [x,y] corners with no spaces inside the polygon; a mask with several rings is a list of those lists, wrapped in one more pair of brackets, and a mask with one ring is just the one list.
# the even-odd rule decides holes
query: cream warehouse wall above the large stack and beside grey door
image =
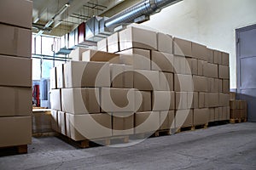
{"label": "cream warehouse wall above the large stack and beside grey door", "polygon": [[255,0],[183,0],[143,25],[230,53],[230,88],[236,88],[236,28],[256,24],[255,7]]}

